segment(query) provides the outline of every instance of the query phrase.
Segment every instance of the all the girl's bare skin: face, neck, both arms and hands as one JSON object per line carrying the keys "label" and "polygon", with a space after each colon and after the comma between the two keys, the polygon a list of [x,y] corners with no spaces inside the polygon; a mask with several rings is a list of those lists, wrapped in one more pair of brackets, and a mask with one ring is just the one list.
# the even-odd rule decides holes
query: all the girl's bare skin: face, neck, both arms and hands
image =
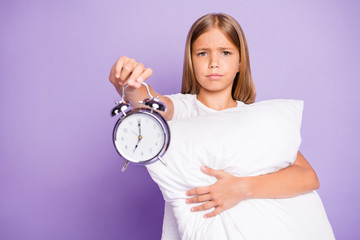
{"label": "all the girl's bare skin: face, neck, both arms and hands", "polygon": [[[197,99],[215,110],[235,107],[236,102],[231,97],[231,88],[233,79],[240,69],[236,46],[220,30],[214,28],[202,34],[193,43],[192,49],[195,76],[200,84]],[[112,67],[109,80],[119,94],[122,87],[128,84],[127,100],[135,103],[137,107],[137,101],[148,96],[141,82],[151,75],[150,68],[123,56]],[[166,120],[171,120],[174,113],[172,101],[158,94],[151,87],[150,91],[153,96],[159,96],[160,101],[166,104],[167,111],[161,114]],[[200,171],[216,177],[217,182],[187,191],[186,195],[189,198],[186,203],[202,203],[191,208],[194,212],[214,208],[204,217],[214,217],[245,199],[294,197],[319,188],[315,171],[300,152],[293,165],[261,176],[235,177],[223,170],[205,166],[201,167]]]}

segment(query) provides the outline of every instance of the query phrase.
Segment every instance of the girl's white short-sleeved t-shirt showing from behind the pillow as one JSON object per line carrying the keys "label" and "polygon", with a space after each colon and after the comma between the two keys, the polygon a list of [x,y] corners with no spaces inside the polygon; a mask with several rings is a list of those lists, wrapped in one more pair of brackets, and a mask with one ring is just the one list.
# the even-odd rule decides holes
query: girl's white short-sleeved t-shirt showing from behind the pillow
{"label": "girl's white short-sleeved t-shirt showing from behind the pillow", "polygon": [[[222,111],[234,111],[245,103],[237,101],[237,106],[234,108],[228,108],[222,111],[217,111],[205,106],[199,100],[196,95],[193,94],[172,94],[166,95],[169,97],[174,104],[174,116],[172,120],[184,119],[189,117],[201,116],[207,113],[222,112]],[[163,240],[180,240],[180,234],[177,227],[174,213],[167,202],[165,202],[164,220],[162,236]]]}

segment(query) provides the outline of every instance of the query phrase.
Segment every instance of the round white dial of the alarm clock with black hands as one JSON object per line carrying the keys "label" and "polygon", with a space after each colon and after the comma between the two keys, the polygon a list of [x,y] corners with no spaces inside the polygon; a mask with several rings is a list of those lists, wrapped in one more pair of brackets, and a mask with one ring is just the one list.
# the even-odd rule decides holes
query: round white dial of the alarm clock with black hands
{"label": "round white dial of the alarm clock with black hands", "polygon": [[153,159],[165,145],[164,128],[155,117],[146,113],[126,116],[114,134],[117,150],[131,162]]}

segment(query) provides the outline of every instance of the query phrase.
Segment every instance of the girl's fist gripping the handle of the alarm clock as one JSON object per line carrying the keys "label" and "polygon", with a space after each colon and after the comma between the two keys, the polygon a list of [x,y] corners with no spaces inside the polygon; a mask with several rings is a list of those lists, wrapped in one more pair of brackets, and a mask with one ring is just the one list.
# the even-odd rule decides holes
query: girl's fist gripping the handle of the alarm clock
{"label": "girl's fist gripping the handle of the alarm clock", "polygon": [[145,68],[144,64],[136,62],[135,59],[122,56],[112,67],[109,80],[115,87],[128,84],[130,87],[139,88],[151,75],[151,68]]}

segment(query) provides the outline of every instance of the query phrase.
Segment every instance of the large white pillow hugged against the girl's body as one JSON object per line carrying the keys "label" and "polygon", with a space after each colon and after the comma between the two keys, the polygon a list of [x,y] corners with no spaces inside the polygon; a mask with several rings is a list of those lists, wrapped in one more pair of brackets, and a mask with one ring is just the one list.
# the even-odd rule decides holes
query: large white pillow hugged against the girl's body
{"label": "large white pillow hugged against the girl's body", "polygon": [[[216,182],[214,177],[200,171],[201,166],[221,169],[235,176],[255,176],[292,164],[301,143],[302,111],[303,101],[269,100],[244,105],[234,111],[169,122],[171,142],[164,155],[167,166],[156,162],[147,165],[147,169],[164,199],[170,203],[183,239],[243,239],[241,236],[298,239],[294,238],[297,235],[304,237],[301,239],[312,239],[317,231],[306,223],[314,220],[308,217],[322,221],[328,229],[330,225],[321,201],[313,201],[314,197],[318,198],[315,192],[310,198],[312,203],[306,203],[312,213],[309,212],[309,216],[302,213],[305,219],[296,221],[284,199],[242,201],[210,219],[202,216],[213,209],[193,213],[190,208],[194,205],[185,203],[186,191]],[[282,214],[280,220],[279,213]],[[284,224],[284,221],[290,223]],[[306,226],[299,226],[299,221]],[[274,237],[263,235],[268,233],[273,233]],[[322,236],[316,235],[320,237],[317,239],[324,239]]]}

